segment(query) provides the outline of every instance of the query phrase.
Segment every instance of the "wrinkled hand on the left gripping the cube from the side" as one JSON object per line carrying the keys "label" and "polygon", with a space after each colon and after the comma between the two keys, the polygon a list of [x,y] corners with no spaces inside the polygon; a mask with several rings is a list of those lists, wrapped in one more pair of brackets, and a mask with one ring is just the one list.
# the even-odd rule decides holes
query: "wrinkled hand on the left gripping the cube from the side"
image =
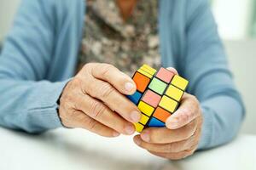
{"label": "wrinkled hand on the left gripping the cube from the side", "polygon": [[113,65],[84,65],[63,90],[61,122],[66,127],[82,127],[106,137],[132,134],[132,122],[139,122],[141,113],[124,94],[135,92],[135,82]]}

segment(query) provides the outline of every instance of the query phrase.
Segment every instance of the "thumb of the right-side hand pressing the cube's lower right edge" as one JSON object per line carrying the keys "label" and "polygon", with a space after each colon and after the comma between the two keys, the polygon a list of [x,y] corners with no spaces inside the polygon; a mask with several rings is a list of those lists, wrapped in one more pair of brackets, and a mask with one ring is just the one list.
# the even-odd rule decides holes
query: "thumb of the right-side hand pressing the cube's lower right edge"
{"label": "thumb of the right-side hand pressing the cube's lower right edge", "polygon": [[172,116],[167,118],[166,127],[170,129],[183,127],[195,120],[197,116],[200,116],[198,100],[194,96],[185,93],[180,107],[172,114]]}

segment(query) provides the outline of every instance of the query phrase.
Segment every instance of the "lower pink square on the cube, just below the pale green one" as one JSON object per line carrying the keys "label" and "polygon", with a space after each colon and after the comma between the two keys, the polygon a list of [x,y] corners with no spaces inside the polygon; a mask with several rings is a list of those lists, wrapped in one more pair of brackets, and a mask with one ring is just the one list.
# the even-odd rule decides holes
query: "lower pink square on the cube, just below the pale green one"
{"label": "lower pink square on the cube, just below the pale green one", "polygon": [[147,103],[148,105],[153,106],[154,108],[160,103],[161,96],[159,94],[155,94],[151,90],[147,90],[143,95],[143,102]]}

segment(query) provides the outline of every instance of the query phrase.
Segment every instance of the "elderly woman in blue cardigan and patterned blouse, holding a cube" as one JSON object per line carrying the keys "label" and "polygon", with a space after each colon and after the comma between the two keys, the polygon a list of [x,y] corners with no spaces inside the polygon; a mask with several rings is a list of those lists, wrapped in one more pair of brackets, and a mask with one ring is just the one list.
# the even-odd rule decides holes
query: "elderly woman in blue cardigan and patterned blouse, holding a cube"
{"label": "elderly woman in blue cardigan and patterned blouse, holding a cube", "polygon": [[236,136],[244,109],[207,0],[23,0],[0,57],[0,124],[131,135],[141,113],[128,75],[143,63],[190,83],[166,127],[137,145],[181,159]]}

